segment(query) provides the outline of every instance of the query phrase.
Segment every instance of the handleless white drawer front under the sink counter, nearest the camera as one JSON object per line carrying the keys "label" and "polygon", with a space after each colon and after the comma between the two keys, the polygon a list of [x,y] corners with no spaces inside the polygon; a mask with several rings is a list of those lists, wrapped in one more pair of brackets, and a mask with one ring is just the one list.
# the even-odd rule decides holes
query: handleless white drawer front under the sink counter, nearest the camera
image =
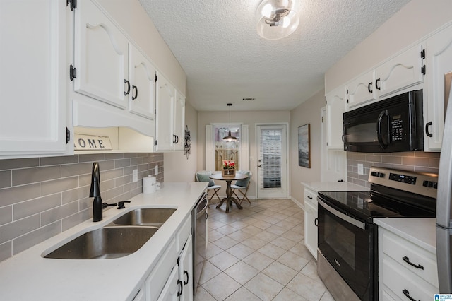
{"label": "handleless white drawer front under the sink counter, nearest the camera", "polygon": [[167,278],[172,271],[174,264],[177,262],[178,251],[176,249],[176,241],[174,238],[169,243],[165,253],[159,259],[157,265],[150,272],[150,275],[145,280],[145,296],[146,300],[157,300],[160,295]]}

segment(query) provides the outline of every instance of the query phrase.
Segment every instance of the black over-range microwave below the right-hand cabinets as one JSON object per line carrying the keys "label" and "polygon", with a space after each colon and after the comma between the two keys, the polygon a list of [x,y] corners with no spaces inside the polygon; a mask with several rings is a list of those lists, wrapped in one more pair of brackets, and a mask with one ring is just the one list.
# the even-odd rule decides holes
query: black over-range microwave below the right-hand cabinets
{"label": "black over-range microwave below the right-hand cabinets", "polygon": [[344,150],[362,153],[422,151],[422,90],[345,112]]}

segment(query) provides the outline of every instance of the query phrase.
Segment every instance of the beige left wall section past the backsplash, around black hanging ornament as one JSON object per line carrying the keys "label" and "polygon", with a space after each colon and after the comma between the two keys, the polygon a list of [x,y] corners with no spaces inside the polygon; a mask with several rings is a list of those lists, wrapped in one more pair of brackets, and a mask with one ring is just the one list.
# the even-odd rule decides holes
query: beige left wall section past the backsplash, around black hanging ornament
{"label": "beige left wall section past the backsplash, around black hanging ornament", "polygon": [[[189,102],[185,102],[185,124],[189,126],[191,153],[188,159],[181,151],[164,153],[165,182],[194,182],[195,180],[200,149],[198,143],[198,112]],[[184,140],[184,137],[182,137],[182,140]]]}

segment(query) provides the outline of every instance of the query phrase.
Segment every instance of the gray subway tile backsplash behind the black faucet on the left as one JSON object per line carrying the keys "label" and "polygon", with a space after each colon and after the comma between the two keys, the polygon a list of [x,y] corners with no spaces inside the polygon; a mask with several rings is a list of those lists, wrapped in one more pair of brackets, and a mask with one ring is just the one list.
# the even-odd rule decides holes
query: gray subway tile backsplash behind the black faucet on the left
{"label": "gray subway tile backsplash behind the black faucet on the left", "polygon": [[[155,175],[155,165],[157,181],[164,181],[162,153],[0,160],[0,261],[92,218],[93,161],[100,164],[102,199],[108,203],[141,194],[141,180]],[[136,183],[131,182],[134,169]]]}

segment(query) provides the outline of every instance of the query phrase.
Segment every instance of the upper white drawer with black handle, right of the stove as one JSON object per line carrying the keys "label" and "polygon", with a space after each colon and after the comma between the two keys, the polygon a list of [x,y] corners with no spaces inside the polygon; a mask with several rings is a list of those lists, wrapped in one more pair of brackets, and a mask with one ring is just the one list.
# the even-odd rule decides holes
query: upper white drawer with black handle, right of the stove
{"label": "upper white drawer with black handle, right of the stove", "polygon": [[[438,287],[436,254],[432,254],[417,244],[413,244],[387,231],[383,232],[383,253],[393,258],[400,266],[407,268],[420,278]],[[422,266],[423,269],[408,264],[403,258],[412,264]]]}

